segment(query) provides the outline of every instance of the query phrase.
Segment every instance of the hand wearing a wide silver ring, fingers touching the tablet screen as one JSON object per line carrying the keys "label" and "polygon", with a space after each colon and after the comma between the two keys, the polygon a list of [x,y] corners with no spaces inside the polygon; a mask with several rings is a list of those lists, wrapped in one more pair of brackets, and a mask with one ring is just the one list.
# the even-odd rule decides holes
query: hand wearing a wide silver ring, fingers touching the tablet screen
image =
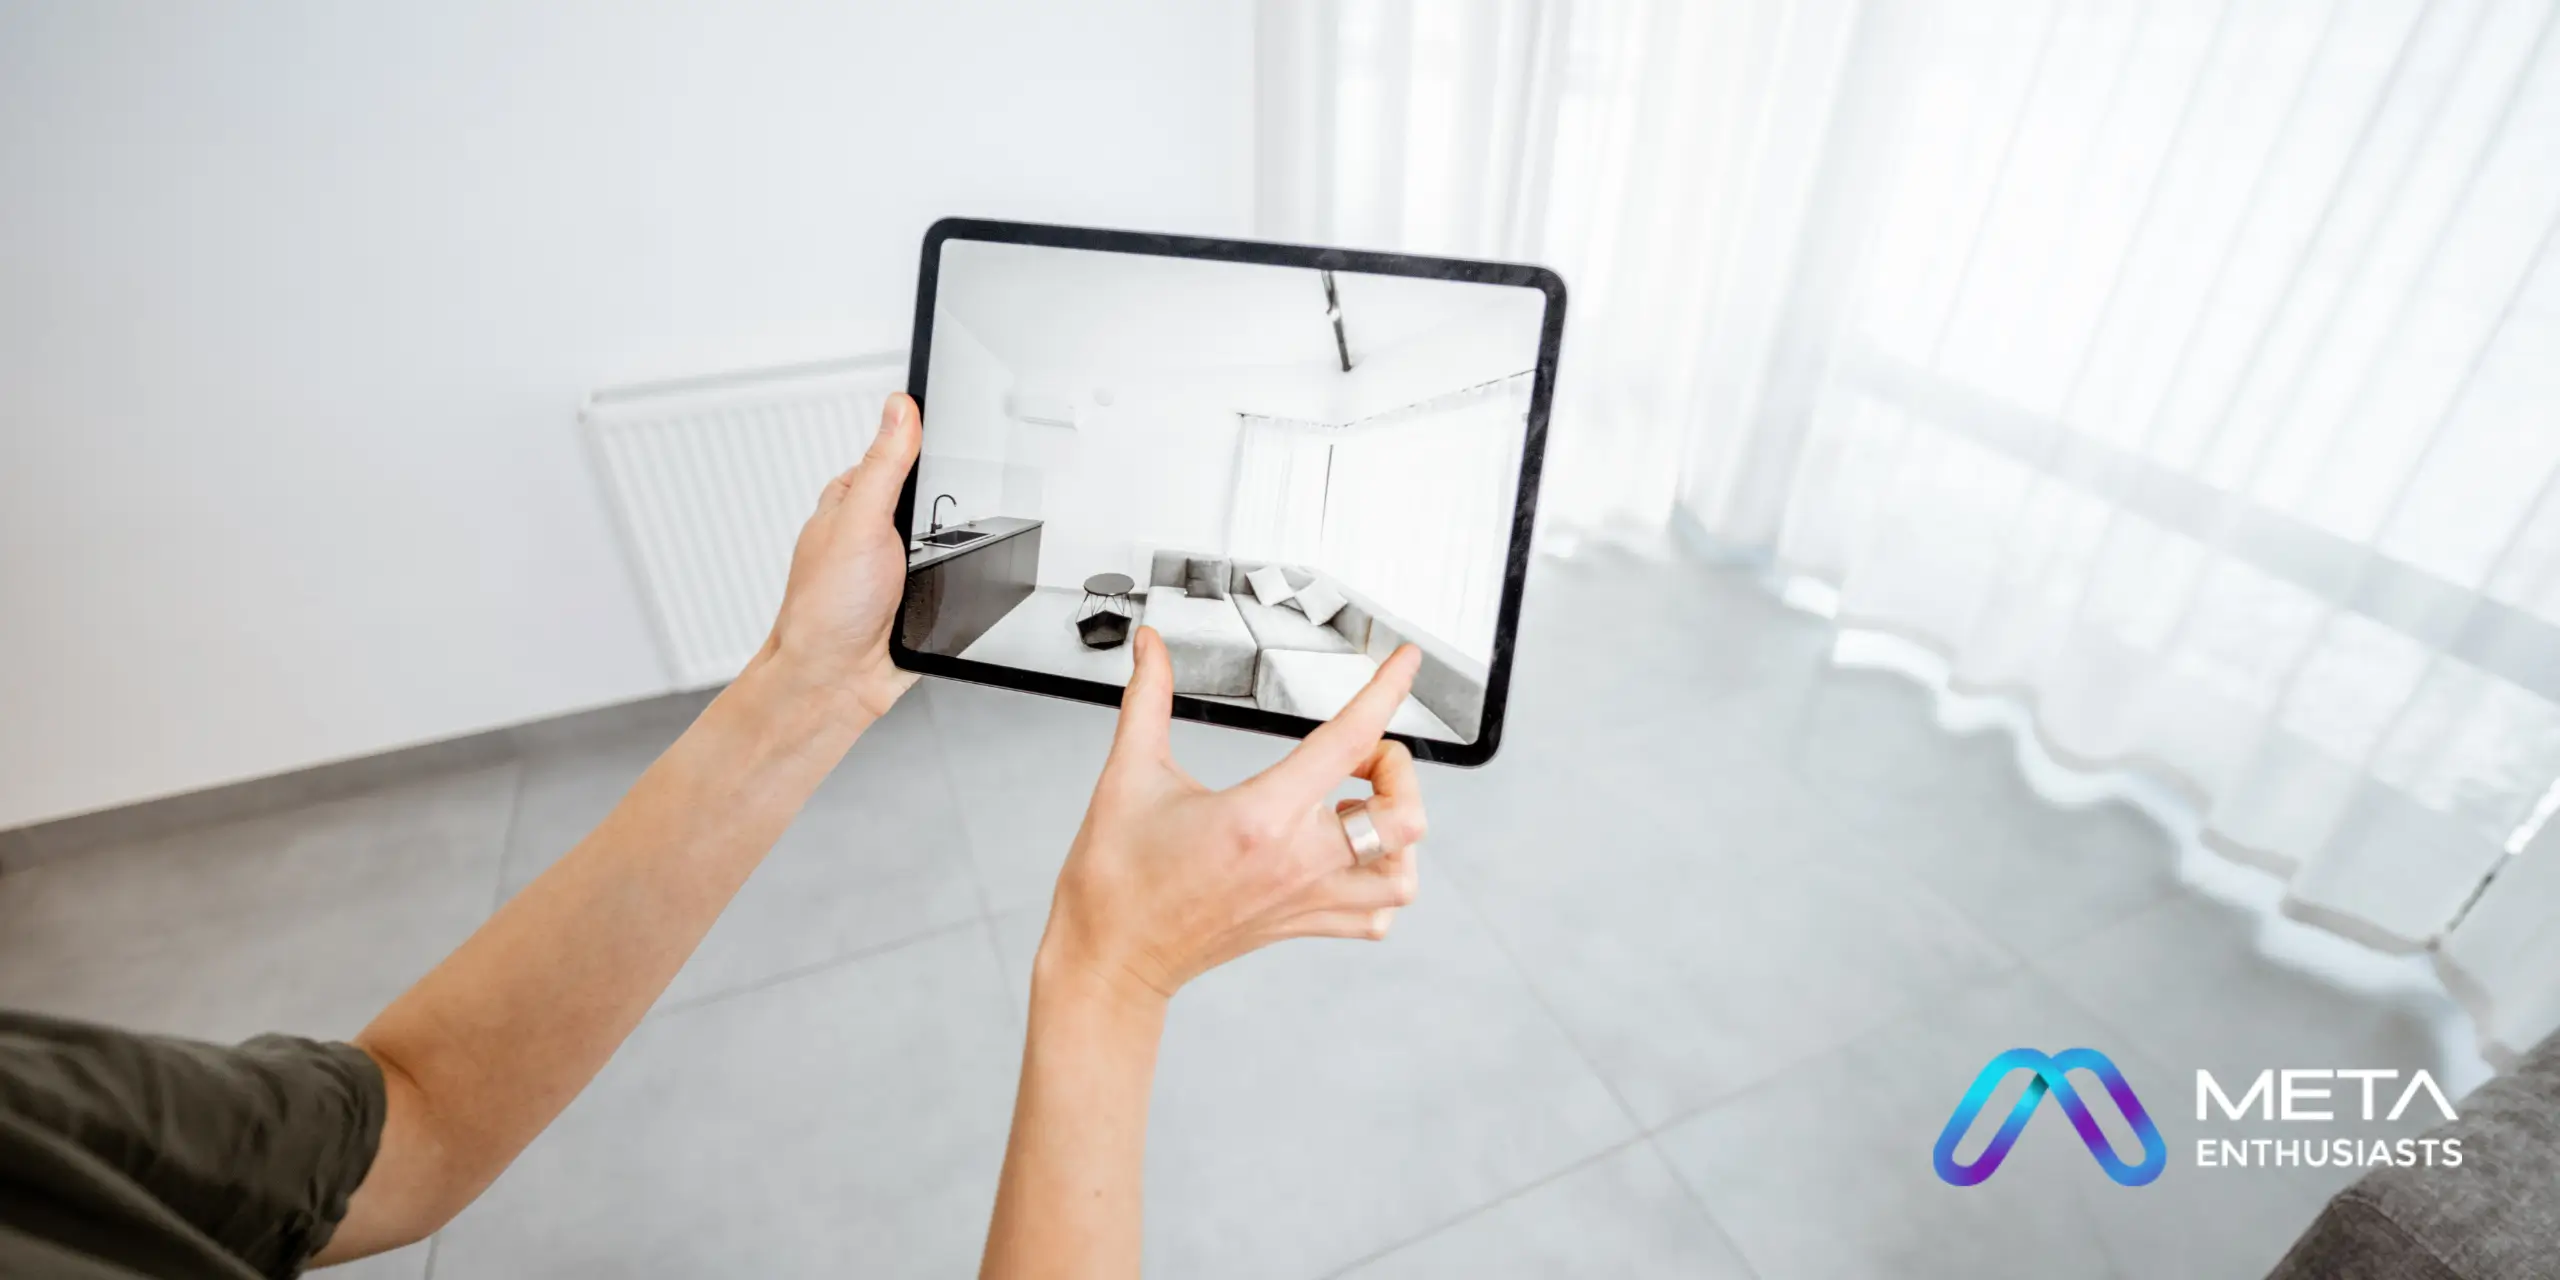
{"label": "hand wearing a wide silver ring, fingers touching the tablet screen", "polygon": [[[1423,796],[1413,755],[1382,740],[1421,650],[1398,648],[1334,719],[1260,776],[1211,791],[1172,763],[1172,666],[1155,627],[1085,824],[1057,876],[1037,980],[1101,978],[1165,1001],[1183,983],[1285,937],[1382,940],[1413,901]],[[1362,778],[1388,852],[1357,865],[1336,809]]]}

